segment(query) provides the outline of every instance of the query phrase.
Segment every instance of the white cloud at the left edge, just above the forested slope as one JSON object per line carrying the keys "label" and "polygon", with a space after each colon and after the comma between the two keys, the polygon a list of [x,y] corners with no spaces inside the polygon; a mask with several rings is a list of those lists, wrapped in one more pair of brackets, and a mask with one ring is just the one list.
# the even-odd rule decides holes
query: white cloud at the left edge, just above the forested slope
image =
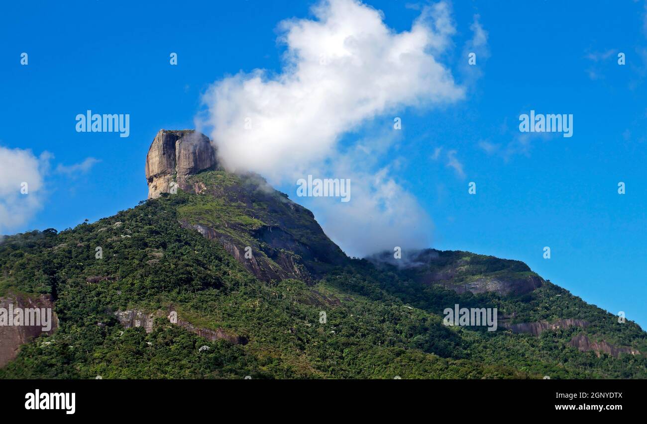
{"label": "white cloud at the left edge, just above the forested slope", "polygon": [[[0,146],[0,233],[28,222],[43,207],[50,158],[47,152],[37,158],[30,150]],[[27,194],[21,193],[23,187]]]}

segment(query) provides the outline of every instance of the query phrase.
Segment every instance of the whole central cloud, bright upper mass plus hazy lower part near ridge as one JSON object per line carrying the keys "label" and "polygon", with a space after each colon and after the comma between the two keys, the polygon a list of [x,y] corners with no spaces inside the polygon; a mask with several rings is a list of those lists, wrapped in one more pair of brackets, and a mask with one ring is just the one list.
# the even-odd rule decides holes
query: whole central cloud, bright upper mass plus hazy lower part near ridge
{"label": "whole central cloud, bright upper mass plus hazy lower part near ridge", "polygon": [[[421,8],[411,30],[403,32],[388,28],[382,12],[356,0],[322,1],[313,14],[314,19],[280,24],[280,41],[287,47],[280,74],[257,69],[215,82],[203,96],[206,118],[197,127],[210,129],[230,171],[255,171],[272,184],[294,182],[314,171],[336,178],[352,175],[352,200],[335,211],[343,211],[344,224],[316,211],[342,248],[371,253],[366,250],[371,246],[356,246],[356,239],[369,237],[370,231],[382,240],[409,234],[413,239],[417,230],[407,220],[428,218],[393,171],[367,160],[367,149],[384,151],[366,143],[364,149],[342,152],[338,141],[386,114],[392,122],[405,107],[464,98],[464,87],[439,62],[455,33],[450,7]],[[402,213],[402,205],[411,207],[409,215]],[[322,212],[333,213],[325,207]],[[338,228],[343,225],[347,231]]]}

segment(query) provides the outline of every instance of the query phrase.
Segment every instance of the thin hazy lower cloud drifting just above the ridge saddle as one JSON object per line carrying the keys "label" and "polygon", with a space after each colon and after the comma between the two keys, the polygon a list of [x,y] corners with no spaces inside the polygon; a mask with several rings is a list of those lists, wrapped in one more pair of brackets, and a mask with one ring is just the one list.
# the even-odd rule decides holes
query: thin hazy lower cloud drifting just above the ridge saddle
{"label": "thin hazy lower cloud drifting just above the ridge saddle", "polygon": [[348,255],[362,257],[377,251],[393,251],[395,246],[430,247],[432,220],[397,181],[402,162],[394,158],[389,165],[378,164],[380,156],[392,153],[389,147],[396,138],[392,134],[362,139],[322,169],[328,175],[350,178],[350,202],[309,199],[325,233]]}

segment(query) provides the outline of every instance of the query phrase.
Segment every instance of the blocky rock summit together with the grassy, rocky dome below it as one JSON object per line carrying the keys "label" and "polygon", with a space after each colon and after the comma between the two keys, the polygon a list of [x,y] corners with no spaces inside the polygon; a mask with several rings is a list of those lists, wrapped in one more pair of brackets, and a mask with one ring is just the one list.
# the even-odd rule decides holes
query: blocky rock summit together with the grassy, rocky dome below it
{"label": "blocky rock summit together with the grassy, rocky dome below it", "polygon": [[[305,207],[259,175],[226,173],[209,139],[194,131],[161,130],[146,156],[149,198],[171,184],[199,196],[179,207],[179,222],[216,240],[262,281],[322,277],[347,258]],[[213,170],[212,172],[203,172]],[[245,259],[247,248],[249,260]]]}

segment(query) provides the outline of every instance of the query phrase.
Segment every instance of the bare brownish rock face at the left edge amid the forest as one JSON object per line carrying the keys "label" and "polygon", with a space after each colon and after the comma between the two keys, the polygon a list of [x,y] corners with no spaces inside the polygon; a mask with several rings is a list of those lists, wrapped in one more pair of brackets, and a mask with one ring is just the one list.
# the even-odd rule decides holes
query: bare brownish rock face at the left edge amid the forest
{"label": "bare brownish rock face at the left edge amid the forest", "polygon": [[43,326],[41,325],[0,326],[0,367],[5,366],[6,363],[16,357],[20,346],[41,334],[52,334],[58,328],[58,317],[54,312],[54,302],[52,302],[50,295],[40,295],[34,298],[23,295],[0,297],[0,308],[8,311],[10,305],[12,310],[16,310],[16,308],[22,308],[23,310],[28,308],[50,309],[52,312],[51,328],[49,331],[43,332]]}

